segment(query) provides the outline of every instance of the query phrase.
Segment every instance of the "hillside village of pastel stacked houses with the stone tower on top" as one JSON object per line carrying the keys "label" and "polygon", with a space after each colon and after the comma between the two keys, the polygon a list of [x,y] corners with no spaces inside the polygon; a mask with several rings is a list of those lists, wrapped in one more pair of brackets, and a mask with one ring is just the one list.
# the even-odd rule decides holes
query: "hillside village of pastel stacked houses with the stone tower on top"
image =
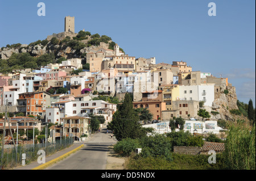
{"label": "hillside village of pastel stacked houses with the stone tower on top", "polygon": [[[193,70],[192,62],[156,64],[155,57],[125,54],[118,44],[111,44],[113,41],[108,39],[88,45],[94,35],[80,39],[86,47],[79,48],[78,52],[51,41],[79,39],[77,35],[80,34],[75,33],[74,17],[66,16],[65,31],[49,35],[47,45],[20,45],[18,49],[0,50],[2,60],[8,60],[13,53],[27,52],[35,57],[54,52],[60,57],[58,60],[64,58],[40,68],[14,69],[0,75],[0,112],[5,115],[7,109],[9,114],[13,113],[10,124],[14,132],[18,120],[19,129],[25,132],[33,129],[34,123],[39,130],[46,123],[62,124],[62,134],[80,140],[83,134],[89,133],[89,114],[104,116],[108,125],[126,93],[133,95],[134,108],[147,108],[154,120],[164,122],[182,117],[192,130],[195,120],[203,119],[197,114],[200,109],[210,113],[205,121],[214,121],[204,130],[215,130],[217,120],[234,120],[229,110],[238,109],[236,88],[228,78]],[[89,65],[88,69],[84,69],[85,64]],[[106,99],[99,99],[99,95]],[[109,101],[108,97],[117,98],[118,102]],[[0,120],[0,132],[3,121],[4,116]],[[10,135],[9,131],[6,134]],[[58,136],[59,129],[55,134]]]}

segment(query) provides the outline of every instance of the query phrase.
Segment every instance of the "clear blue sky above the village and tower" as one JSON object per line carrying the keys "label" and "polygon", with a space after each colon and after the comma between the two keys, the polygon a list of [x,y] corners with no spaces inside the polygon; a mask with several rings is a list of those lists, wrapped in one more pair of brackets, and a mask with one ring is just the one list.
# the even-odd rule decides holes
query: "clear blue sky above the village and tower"
{"label": "clear blue sky above the village and tower", "polygon": [[[39,2],[46,16],[37,15]],[[208,16],[209,2],[216,16]],[[238,99],[251,98],[255,107],[254,0],[0,0],[0,47],[63,32],[68,15],[76,32],[110,36],[130,56],[183,60],[192,70],[228,77]]]}

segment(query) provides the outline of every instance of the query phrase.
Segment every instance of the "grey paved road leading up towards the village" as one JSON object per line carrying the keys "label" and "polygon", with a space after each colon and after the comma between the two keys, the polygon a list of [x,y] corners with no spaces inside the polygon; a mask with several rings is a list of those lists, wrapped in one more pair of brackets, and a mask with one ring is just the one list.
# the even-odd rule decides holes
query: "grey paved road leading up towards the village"
{"label": "grey paved road leading up towards the village", "polygon": [[81,150],[45,170],[105,170],[109,146],[115,142],[104,129],[90,138]]}

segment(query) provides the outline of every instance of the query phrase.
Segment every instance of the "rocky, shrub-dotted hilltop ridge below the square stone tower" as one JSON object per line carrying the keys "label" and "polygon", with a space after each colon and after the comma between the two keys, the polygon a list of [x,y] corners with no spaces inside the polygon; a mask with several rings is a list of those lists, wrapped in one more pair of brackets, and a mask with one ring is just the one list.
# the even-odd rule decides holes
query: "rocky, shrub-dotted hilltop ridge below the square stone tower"
{"label": "rocky, shrub-dotted hilltop ridge below the square stone tower", "polygon": [[78,37],[75,37],[75,39],[65,37],[64,40],[38,40],[29,45],[19,43],[6,45],[6,47],[0,49],[0,59],[8,60],[13,53],[30,53],[34,57],[54,53],[56,58],[84,58],[86,53],[96,53],[100,48],[113,49],[115,44],[106,35],[100,36],[96,34],[95,36],[86,35],[82,38],[81,36]]}

